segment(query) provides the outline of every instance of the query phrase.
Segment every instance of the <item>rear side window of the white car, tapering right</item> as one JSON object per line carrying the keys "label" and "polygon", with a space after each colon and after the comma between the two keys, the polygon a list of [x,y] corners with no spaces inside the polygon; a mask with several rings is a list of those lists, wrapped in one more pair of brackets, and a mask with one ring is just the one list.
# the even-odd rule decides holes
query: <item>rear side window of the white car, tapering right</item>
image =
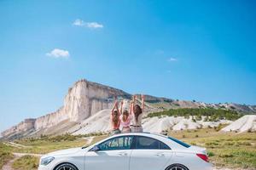
{"label": "rear side window of the white car, tapering right", "polygon": [[171,150],[169,146],[157,139],[138,136],[136,143],[137,150]]}

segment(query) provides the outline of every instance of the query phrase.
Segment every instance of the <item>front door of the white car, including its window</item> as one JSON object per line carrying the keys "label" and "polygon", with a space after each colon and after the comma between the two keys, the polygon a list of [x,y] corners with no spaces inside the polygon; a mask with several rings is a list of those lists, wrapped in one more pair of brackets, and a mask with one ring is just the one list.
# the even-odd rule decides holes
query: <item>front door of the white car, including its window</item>
{"label": "front door of the white car, including its window", "polygon": [[132,136],[119,136],[98,144],[99,150],[85,155],[86,170],[129,170]]}

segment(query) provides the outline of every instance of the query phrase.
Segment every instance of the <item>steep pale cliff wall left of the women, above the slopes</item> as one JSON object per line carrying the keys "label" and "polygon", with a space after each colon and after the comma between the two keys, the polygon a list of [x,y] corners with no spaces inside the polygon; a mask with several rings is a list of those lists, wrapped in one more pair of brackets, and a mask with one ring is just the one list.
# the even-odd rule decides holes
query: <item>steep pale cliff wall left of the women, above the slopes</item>
{"label": "steep pale cliff wall left of the women, above the slopes", "polygon": [[38,131],[49,128],[63,121],[81,122],[98,111],[109,109],[113,105],[113,99],[119,96],[124,99],[131,98],[130,94],[116,88],[110,88],[89,82],[85,79],[75,82],[64,99],[64,105],[53,113],[38,117],[37,119],[26,119],[14,127],[3,131],[2,136],[26,131]]}

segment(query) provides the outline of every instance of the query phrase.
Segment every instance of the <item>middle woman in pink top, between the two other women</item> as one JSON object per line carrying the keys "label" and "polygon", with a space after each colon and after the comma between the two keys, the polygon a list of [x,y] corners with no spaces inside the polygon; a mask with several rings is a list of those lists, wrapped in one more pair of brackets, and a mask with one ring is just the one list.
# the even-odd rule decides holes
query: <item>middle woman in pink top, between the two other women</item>
{"label": "middle woman in pink top, between the two other women", "polygon": [[122,113],[122,115],[120,116],[120,124],[122,127],[121,133],[131,133],[131,128],[130,128],[131,114],[129,114],[129,112],[126,109],[124,111],[122,110],[123,110],[123,101],[121,102],[121,109],[120,109],[120,113]]}

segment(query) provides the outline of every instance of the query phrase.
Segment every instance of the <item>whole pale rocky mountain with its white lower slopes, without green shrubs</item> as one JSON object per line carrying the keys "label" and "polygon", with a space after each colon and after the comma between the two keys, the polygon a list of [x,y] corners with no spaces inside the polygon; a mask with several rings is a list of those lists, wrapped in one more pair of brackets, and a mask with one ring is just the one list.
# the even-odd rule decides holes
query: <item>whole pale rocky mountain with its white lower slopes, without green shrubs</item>
{"label": "whole pale rocky mountain with its white lower slopes, without green shrubs", "polygon": [[[137,95],[136,103],[141,105],[140,95]],[[64,105],[57,111],[40,116],[36,119],[26,119],[19,124],[3,131],[2,136],[6,139],[17,139],[22,137],[39,136],[40,134],[84,134],[107,132],[109,127],[110,109],[113,100],[124,100],[123,109],[130,109],[131,94],[122,90],[111,88],[96,82],[79,80],[68,89],[64,98]],[[230,123],[226,120],[219,122],[194,122],[191,118],[184,117],[147,117],[148,113],[165,111],[178,108],[212,108],[239,111],[243,114],[256,114],[255,105],[239,105],[232,103],[207,104],[197,101],[186,101],[178,99],[158,98],[145,95],[145,108],[143,110],[143,127],[145,132],[161,133],[166,130],[196,129],[200,127],[218,127],[220,123]],[[248,116],[247,116],[248,117]],[[254,116],[243,118],[238,124],[230,126],[224,131],[247,132],[255,131]],[[248,123],[245,123],[248,122]],[[235,123],[236,124],[236,123]],[[243,126],[246,124],[245,126]],[[1,137],[0,137],[1,138]]]}

